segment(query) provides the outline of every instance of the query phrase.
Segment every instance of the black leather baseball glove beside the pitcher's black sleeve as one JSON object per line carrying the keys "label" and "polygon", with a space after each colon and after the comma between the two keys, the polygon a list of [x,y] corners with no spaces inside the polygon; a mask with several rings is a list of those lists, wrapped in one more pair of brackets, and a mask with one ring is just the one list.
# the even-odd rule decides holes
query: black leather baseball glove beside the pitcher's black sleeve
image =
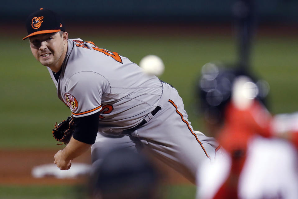
{"label": "black leather baseball glove beside the pitcher's black sleeve", "polygon": [[[74,132],[74,121],[72,116],[67,117],[66,120],[63,120],[58,125],[56,122],[52,132],[55,140],[59,142],[63,142],[65,145],[67,145]],[[62,145],[62,144],[57,144],[57,145]]]}

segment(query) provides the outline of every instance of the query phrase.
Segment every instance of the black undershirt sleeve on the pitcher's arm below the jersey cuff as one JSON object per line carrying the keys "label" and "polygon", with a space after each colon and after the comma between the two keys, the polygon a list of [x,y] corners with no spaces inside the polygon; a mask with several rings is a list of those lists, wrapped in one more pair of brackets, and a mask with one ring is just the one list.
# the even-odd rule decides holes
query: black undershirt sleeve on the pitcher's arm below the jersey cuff
{"label": "black undershirt sleeve on the pitcher's arm below the jersey cuff", "polygon": [[98,131],[99,112],[85,117],[74,117],[72,137],[86,144],[94,144]]}

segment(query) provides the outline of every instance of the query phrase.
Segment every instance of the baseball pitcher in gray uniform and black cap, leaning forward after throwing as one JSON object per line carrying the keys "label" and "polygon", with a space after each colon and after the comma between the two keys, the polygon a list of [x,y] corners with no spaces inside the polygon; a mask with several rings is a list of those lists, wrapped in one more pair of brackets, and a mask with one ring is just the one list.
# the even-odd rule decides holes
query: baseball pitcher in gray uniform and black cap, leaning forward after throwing
{"label": "baseball pitcher in gray uniform and black cap, leaning forward after throwing", "polygon": [[60,17],[50,10],[32,13],[26,27],[24,39],[71,110],[71,138],[54,156],[61,170],[91,146],[93,164],[113,147],[146,147],[195,183],[198,165],[214,158],[218,144],[193,130],[174,87],[116,52],[68,39]]}

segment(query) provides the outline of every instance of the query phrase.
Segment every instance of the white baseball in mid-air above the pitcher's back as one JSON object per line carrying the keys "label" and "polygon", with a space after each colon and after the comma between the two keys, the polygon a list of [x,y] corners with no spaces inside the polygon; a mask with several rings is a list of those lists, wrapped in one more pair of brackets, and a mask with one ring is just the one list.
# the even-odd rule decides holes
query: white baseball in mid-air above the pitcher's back
{"label": "white baseball in mid-air above the pitcher's back", "polygon": [[164,72],[163,60],[156,55],[147,55],[141,59],[139,66],[148,74],[160,76]]}

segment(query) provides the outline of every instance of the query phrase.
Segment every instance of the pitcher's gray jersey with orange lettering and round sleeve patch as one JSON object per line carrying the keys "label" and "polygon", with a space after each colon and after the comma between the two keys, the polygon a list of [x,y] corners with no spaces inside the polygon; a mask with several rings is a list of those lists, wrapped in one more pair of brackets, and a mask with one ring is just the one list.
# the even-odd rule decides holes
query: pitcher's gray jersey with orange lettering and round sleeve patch
{"label": "pitcher's gray jersey with orange lettering and round sleeve patch", "polygon": [[[67,66],[67,67],[66,67]],[[99,132],[117,136],[150,113],[162,94],[162,82],[138,65],[92,42],[68,39],[68,49],[57,82],[58,97],[73,117],[100,111]]]}

